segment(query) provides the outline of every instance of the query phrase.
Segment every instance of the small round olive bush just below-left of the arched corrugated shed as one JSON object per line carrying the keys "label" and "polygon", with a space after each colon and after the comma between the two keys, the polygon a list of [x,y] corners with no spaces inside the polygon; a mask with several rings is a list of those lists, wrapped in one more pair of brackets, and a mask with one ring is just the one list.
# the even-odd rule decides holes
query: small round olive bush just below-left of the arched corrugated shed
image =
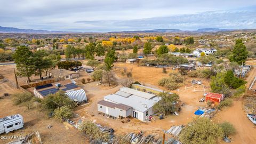
{"label": "small round olive bush just below-left of the arched corrugated shed", "polygon": [[70,106],[62,106],[54,109],[54,118],[59,119],[69,119],[72,117],[72,109]]}

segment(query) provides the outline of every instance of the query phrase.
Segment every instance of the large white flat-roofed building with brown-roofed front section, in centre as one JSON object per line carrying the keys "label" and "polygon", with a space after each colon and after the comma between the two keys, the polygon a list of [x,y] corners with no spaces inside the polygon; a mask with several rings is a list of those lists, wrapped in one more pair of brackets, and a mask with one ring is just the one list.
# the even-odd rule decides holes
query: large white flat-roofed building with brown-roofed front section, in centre
{"label": "large white flat-roofed building with brown-roofed front section, in centre", "polygon": [[115,94],[108,94],[103,101],[99,101],[98,111],[117,118],[132,116],[145,121],[154,114],[153,106],[160,100],[155,94],[122,87]]}

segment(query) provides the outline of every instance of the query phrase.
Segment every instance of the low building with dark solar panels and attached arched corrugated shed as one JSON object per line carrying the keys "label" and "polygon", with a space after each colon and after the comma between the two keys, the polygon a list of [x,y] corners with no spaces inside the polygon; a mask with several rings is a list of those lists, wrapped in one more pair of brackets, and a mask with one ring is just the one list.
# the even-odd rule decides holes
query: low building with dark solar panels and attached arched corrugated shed
{"label": "low building with dark solar panels and attached arched corrugated shed", "polygon": [[57,93],[60,90],[64,91],[71,100],[76,99],[79,102],[87,100],[85,91],[78,87],[75,81],[70,80],[36,86],[34,94],[36,97],[43,99],[47,95]]}

